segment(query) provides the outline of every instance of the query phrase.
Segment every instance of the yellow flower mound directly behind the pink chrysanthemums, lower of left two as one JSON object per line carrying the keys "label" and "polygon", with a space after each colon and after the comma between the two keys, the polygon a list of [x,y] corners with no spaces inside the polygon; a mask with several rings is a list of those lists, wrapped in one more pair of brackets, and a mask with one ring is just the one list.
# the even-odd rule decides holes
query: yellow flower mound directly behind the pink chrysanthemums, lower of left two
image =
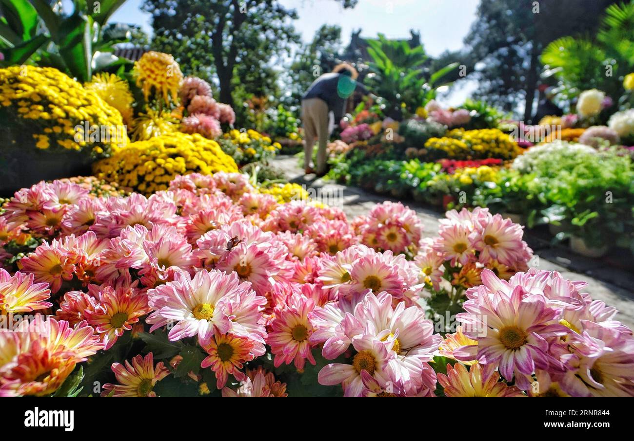
{"label": "yellow flower mound directly behind the pink chrysanthemums, lower of left two", "polygon": [[111,158],[95,163],[93,171],[100,179],[149,195],[166,190],[176,175],[236,172],[238,166],[216,141],[174,132],[132,142]]}

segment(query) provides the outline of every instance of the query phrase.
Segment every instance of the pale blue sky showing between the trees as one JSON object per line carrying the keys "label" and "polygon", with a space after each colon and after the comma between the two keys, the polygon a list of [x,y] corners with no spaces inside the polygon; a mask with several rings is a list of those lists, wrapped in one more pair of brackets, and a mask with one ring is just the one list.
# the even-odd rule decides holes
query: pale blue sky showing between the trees
{"label": "pale blue sky showing between the trees", "polygon": [[[463,46],[462,40],[475,20],[479,3],[479,0],[359,0],[356,8],[343,9],[333,0],[280,1],[297,10],[299,20],[294,25],[304,41],[311,40],[325,23],[342,28],[344,45],[350,42],[353,30],[359,28],[362,37],[376,37],[382,32],[388,38],[409,38],[413,29],[420,32],[425,49],[432,56]],[[151,33],[150,16],[140,10],[142,3],[143,0],[127,0],[112,21],[140,24]],[[462,80],[441,101],[451,106],[462,104],[474,89],[474,82]]]}

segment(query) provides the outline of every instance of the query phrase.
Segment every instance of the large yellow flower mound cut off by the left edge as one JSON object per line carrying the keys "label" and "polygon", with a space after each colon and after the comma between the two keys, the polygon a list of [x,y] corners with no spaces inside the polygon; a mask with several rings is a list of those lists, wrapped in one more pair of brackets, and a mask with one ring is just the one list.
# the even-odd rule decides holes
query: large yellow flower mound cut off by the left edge
{"label": "large yellow flower mound cut off by the left edge", "polygon": [[103,157],[128,142],[119,111],[55,68],[0,69],[0,105],[8,114],[3,124],[32,134],[39,149],[63,147]]}

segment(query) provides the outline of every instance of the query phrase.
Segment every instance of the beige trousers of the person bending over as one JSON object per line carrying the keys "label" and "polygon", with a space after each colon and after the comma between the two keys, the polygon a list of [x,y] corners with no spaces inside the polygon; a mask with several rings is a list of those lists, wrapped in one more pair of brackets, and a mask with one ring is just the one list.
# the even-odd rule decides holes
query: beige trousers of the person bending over
{"label": "beige trousers of the person bending over", "polygon": [[319,140],[317,150],[317,173],[326,171],[326,146],[328,145],[328,104],[323,99],[302,100],[302,123],[304,125],[304,168],[311,166],[315,138]]}

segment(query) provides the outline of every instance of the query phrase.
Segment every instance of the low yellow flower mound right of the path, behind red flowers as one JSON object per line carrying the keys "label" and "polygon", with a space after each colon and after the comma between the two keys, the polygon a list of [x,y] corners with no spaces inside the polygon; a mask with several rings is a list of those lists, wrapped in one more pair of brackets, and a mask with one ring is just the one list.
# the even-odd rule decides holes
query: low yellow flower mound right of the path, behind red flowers
{"label": "low yellow flower mound right of the path, behind red flowers", "polygon": [[425,148],[444,151],[451,159],[513,159],[521,154],[517,142],[497,128],[455,128],[445,137],[430,138]]}

